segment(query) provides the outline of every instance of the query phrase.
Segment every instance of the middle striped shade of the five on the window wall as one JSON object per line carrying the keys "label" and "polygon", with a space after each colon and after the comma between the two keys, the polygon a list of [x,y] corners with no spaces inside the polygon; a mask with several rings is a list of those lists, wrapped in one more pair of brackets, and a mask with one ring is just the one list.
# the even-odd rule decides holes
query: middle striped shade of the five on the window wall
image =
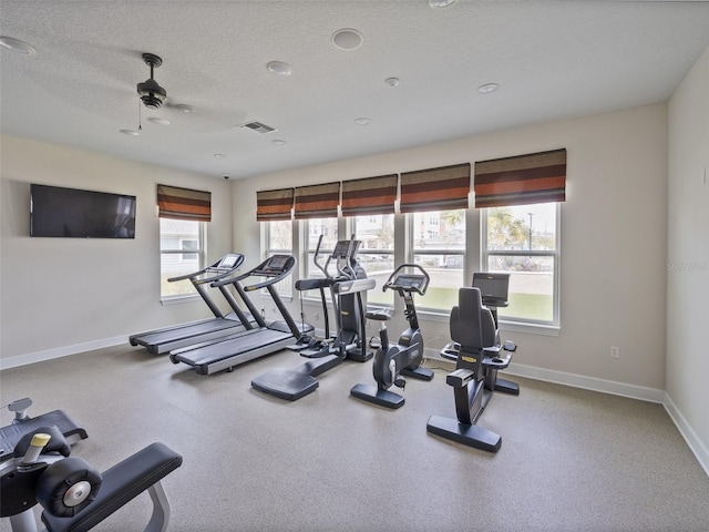
{"label": "middle striped shade of the five on the window wall", "polygon": [[393,214],[397,174],[342,182],[342,216]]}

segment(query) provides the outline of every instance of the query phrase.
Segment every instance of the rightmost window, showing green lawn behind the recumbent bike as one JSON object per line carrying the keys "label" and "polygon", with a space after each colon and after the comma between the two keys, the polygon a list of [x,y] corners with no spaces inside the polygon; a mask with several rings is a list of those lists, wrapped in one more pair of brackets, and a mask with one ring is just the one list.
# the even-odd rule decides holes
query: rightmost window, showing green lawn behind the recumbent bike
{"label": "rightmost window, showing green lawn behind the recumbent bike", "polygon": [[558,325],[559,203],[481,211],[482,267],[508,273],[508,321]]}

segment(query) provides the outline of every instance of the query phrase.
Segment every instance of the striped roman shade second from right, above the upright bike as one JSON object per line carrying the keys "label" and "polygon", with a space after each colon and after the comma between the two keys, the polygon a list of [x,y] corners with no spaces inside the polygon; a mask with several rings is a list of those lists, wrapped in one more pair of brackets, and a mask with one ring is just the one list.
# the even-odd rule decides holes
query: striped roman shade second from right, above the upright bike
{"label": "striped roman shade second from right, above the upright bike", "polygon": [[470,163],[401,174],[401,212],[467,208]]}

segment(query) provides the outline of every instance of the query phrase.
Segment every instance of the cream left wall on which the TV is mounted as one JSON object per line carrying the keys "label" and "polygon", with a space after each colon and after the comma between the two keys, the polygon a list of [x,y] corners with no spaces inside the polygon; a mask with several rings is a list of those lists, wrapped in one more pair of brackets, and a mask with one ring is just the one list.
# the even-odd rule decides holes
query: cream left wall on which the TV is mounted
{"label": "cream left wall on which the TV is mounted", "polygon": [[[160,303],[155,185],[212,192],[207,250],[216,259],[230,250],[230,183],[10,136],[0,147],[3,367],[127,344],[130,334],[209,314],[201,300]],[[30,238],[30,183],[137,196],[135,239]]]}

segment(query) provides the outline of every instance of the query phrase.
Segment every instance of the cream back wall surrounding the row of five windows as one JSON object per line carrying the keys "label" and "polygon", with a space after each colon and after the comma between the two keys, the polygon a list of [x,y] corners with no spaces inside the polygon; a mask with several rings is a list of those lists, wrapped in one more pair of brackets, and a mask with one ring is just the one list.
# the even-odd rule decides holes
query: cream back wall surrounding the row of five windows
{"label": "cream back wall surrounding the row of five windows", "polygon": [[[234,185],[235,249],[259,254],[256,192],[566,147],[562,328],[508,332],[514,364],[654,390],[665,388],[667,105],[664,103],[276,172]],[[474,235],[471,239],[476,242]],[[476,253],[476,246],[473,246]],[[292,304],[297,315],[297,301]],[[400,326],[392,325],[393,330]],[[422,320],[430,347],[448,323]],[[430,344],[429,344],[430,345]],[[610,346],[620,358],[609,357]]]}

